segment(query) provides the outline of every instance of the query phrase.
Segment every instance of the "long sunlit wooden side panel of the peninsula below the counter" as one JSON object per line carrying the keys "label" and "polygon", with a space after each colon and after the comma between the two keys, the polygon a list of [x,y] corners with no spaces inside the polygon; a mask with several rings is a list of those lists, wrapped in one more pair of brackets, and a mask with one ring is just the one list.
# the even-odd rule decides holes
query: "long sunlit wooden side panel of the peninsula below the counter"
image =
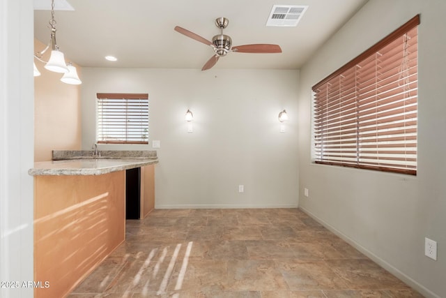
{"label": "long sunlit wooden side panel of the peninsula below the counter", "polygon": [[34,297],[65,297],[124,241],[124,177],[34,177]]}

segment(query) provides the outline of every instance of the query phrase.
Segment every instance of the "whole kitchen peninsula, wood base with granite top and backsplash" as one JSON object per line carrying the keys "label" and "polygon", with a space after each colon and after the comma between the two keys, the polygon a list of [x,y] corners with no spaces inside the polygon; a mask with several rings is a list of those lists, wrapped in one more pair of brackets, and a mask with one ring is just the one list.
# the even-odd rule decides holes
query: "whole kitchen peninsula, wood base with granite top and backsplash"
{"label": "whole kitchen peninsula, wood base with granite top and backsplash", "polygon": [[[118,152],[118,154],[116,154]],[[153,209],[156,151],[54,151],[35,163],[35,297],[65,297],[125,240],[125,172],[141,168],[141,218]]]}

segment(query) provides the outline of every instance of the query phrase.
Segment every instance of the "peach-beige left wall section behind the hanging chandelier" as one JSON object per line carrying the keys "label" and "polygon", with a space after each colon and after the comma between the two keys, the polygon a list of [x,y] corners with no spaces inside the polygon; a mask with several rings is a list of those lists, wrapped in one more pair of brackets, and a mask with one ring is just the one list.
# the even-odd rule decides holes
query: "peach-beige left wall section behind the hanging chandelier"
{"label": "peach-beige left wall section behind the hanging chandelier", "polygon": [[[41,51],[45,45],[34,40],[34,48]],[[45,52],[45,61],[49,52]],[[34,62],[41,73],[34,77],[34,161],[51,161],[52,150],[81,148],[82,85],[65,84],[60,81],[61,73],[46,70],[38,59]],[[77,73],[82,80],[79,67]]]}

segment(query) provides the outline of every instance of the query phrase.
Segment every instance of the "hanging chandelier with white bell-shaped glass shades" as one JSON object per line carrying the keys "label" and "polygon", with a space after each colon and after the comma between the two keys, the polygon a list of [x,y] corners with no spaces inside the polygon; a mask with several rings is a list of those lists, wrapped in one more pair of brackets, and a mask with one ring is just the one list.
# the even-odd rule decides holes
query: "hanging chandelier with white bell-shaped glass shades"
{"label": "hanging chandelier with white bell-shaped glass shades", "polygon": [[[59,45],[56,43],[56,20],[54,20],[54,0],[51,2],[51,20],[49,20],[49,25],[51,26],[51,35],[49,37],[49,43],[45,49],[40,52],[36,52],[34,54],[34,58],[42,61],[45,64],[45,68],[50,71],[54,71],[55,73],[63,73],[63,77],[61,79],[62,82],[66,84],[82,84],[82,81],[79,80],[77,76],[77,71],[75,66],[71,64],[67,65],[65,62],[65,58],[63,57],[63,52],[59,51]],[[51,47],[51,56],[49,57],[48,62],[43,61],[43,54]],[[36,68],[36,64],[34,64],[34,76],[38,77],[40,75],[39,70]]]}

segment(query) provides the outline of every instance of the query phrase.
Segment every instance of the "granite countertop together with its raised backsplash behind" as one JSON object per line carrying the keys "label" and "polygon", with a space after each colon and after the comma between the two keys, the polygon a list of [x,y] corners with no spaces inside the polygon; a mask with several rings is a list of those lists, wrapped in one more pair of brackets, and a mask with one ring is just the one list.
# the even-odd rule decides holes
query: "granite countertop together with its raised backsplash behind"
{"label": "granite countertop together with its raised backsplash behind", "polygon": [[156,151],[53,151],[53,161],[34,163],[33,176],[101,175],[158,163]]}

